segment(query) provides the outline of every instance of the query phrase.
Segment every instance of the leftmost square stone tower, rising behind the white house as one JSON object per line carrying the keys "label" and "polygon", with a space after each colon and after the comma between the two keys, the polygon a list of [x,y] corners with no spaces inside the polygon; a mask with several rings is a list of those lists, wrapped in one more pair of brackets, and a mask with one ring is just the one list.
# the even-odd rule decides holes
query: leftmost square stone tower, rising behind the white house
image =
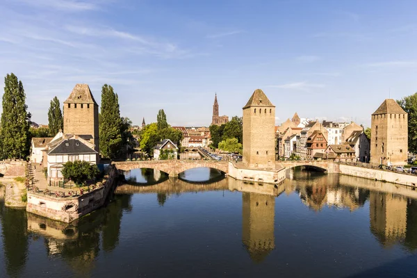
{"label": "leftmost square stone tower, rising behind the white house", "polygon": [[76,84],[64,101],[64,134],[90,140],[99,152],[99,106],[87,84]]}

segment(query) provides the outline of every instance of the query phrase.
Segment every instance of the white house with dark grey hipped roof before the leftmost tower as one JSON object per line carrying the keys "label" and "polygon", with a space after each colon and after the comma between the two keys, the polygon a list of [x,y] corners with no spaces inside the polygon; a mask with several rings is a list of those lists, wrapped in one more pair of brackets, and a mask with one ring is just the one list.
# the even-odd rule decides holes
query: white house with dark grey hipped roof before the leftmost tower
{"label": "white house with dark grey hipped roof before the leftmost tower", "polygon": [[63,179],[61,170],[67,161],[88,161],[96,164],[98,153],[94,147],[94,144],[76,135],[63,135],[52,140],[46,151],[47,165],[45,166],[48,167],[49,179]]}

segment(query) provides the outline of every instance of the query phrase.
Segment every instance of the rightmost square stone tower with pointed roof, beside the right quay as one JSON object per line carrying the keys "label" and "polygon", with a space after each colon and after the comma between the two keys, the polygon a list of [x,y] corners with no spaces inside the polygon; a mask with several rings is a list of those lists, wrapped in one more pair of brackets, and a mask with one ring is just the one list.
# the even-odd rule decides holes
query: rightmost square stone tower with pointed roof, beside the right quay
{"label": "rightmost square stone tower with pointed roof, beside the right quay", "polygon": [[371,118],[370,163],[404,165],[408,152],[408,115],[385,99]]}

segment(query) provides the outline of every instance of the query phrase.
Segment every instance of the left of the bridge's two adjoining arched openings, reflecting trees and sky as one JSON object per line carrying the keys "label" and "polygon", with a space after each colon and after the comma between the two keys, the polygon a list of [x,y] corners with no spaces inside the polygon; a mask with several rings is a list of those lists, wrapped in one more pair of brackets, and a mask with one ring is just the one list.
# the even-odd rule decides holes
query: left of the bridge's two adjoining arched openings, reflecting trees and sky
{"label": "left of the bridge's two adjoining arched openings, reflecting trees and sky", "polygon": [[138,186],[152,186],[169,179],[168,173],[150,168],[136,168],[123,174],[124,183]]}

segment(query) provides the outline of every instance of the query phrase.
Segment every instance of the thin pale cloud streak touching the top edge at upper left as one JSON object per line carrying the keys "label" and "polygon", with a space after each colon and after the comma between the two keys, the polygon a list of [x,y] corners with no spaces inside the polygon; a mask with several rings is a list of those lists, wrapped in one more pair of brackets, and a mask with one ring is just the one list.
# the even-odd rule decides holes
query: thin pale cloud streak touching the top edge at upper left
{"label": "thin pale cloud streak touching the top edge at upper left", "polygon": [[15,0],[31,6],[53,8],[66,12],[79,12],[83,10],[97,10],[99,6],[91,1],[78,0]]}

